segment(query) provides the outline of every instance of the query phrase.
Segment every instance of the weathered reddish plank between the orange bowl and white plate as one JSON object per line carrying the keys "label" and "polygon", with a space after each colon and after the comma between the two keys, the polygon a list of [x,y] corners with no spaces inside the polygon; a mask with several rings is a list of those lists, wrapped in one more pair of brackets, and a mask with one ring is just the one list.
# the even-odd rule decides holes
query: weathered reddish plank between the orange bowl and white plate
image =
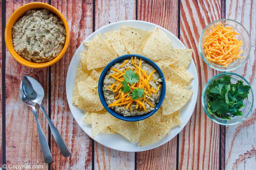
{"label": "weathered reddish plank between the orange bowl and white plate", "polygon": [[71,151],[64,157],[53,136],[51,137],[52,169],[91,169],[92,139],[78,126],[68,108],[66,76],[69,63],[82,41],[92,33],[92,0],[52,0],[67,19],[70,29],[69,48],[56,64],[51,66],[51,118]]}

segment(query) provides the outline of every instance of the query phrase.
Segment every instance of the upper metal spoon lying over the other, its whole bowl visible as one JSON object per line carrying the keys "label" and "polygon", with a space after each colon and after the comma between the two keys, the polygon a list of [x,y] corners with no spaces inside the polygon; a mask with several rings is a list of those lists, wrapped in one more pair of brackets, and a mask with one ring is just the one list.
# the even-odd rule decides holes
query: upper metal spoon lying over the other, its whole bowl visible
{"label": "upper metal spoon lying over the other, its whole bowl visible", "polygon": [[68,150],[67,145],[65,144],[62,137],[60,136],[60,133],[57,130],[57,128],[52,124],[52,121],[50,120],[49,116],[45,112],[44,106],[42,105],[42,100],[44,99],[43,87],[34,78],[29,77],[29,76],[24,76],[22,79],[22,88],[23,88],[23,91],[24,91],[26,97],[28,98],[28,100],[39,104],[40,109],[43,111],[43,113],[46,117],[46,120],[50,126],[52,135],[60,148],[60,152],[64,156],[69,156],[70,152]]}

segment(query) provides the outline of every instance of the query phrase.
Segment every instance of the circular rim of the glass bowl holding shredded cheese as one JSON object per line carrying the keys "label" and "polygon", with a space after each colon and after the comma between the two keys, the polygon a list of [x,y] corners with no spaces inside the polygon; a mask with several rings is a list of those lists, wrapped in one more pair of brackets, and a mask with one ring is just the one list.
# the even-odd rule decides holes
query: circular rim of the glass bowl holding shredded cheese
{"label": "circular rim of the glass bowl holding shredded cheese", "polygon": [[[231,68],[231,69],[219,69],[219,68],[214,67],[211,63],[209,63],[209,62],[204,58],[204,55],[203,55],[203,52],[202,52],[202,49],[201,49],[201,40],[202,40],[202,37],[203,37],[203,34],[204,34],[205,30],[206,30],[208,27],[210,27],[210,26],[211,26],[212,24],[214,24],[215,22],[218,22],[218,21],[226,21],[226,20],[235,22],[235,23],[237,23],[238,25],[240,25],[240,26],[242,26],[242,27],[244,28],[245,32],[246,32],[247,35],[249,36],[249,43],[250,43],[250,45],[249,45],[249,52],[248,52],[248,55],[245,57],[244,61],[243,61],[241,64],[239,64],[238,66],[236,66],[236,67],[234,67],[234,68]],[[242,35],[242,36],[243,36],[243,35]],[[251,36],[250,36],[250,34],[248,33],[247,29],[246,29],[241,23],[239,23],[239,22],[237,22],[236,20],[233,20],[233,19],[218,19],[218,20],[215,20],[215,21],[211,22],[210,24],[208,24],[208,25],[203,29],[202,33],[200,34],[199,41],[198,41],[198,51],[199,51],[199,53],[200,53],[202,59],[204,60],[204,62],[205,62],[209,67],[213,68],[214,70],[218,70],[218,71],[232,71],[232,70],[238,69],[239,67],[241,67],[241,66],[247,61],[247,59],[248,59],[248,57],[250,56],[250,53],[251,53],[251,43],[252,43],[252,42],[251,42]]]}

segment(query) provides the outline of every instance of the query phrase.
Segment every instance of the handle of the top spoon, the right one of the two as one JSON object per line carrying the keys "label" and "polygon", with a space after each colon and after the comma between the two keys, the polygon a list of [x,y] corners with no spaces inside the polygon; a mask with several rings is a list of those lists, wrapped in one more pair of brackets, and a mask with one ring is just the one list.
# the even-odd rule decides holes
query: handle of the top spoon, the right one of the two
{"label": "handle of the top spoon, the right one of the two", "polygon": [[68,150],[67,145],[65,144],[65,142],[63,141],[62,137],[60,136],[59,131],[57,130],[57,128],[52,124],[51,119],[49,118],[49,116],[47,115],[47,113],[45,112],[44,106],[42,104],[40,104],[40,109],[43,111],[46,120],[50,126],[52,135],[56,141],[56,143],[58,144],[59,148],[60,148],[60,152],[64,155],[64,156],[69,156],[71,153]]}

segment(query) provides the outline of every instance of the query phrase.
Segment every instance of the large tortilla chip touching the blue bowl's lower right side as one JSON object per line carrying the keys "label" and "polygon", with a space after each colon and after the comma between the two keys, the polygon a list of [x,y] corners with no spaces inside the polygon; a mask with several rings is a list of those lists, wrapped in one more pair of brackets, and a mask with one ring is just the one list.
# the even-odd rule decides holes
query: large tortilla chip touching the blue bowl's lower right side
{"label": "large tortilla chip touching the blue bowl's lower right side", "polygon": [[166,81],[166,93],[162,104],[163,115],[170,115],[180,110],[191,98],[193,91],[183,89]]}

